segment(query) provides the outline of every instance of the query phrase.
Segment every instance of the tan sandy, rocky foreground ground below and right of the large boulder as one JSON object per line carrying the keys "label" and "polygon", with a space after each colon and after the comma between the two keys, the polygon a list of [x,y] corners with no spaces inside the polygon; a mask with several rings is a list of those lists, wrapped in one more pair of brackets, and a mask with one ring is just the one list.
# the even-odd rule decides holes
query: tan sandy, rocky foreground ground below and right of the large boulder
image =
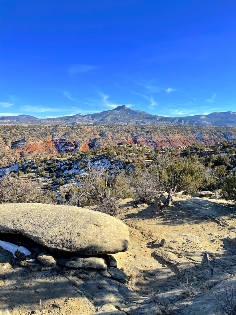
{"label": "tan sandy, rocky foreground ground below and right of the large boulder", "polygon": [[[119,315],[117,309],[126,307],[130,300],[141,303],[180,289],[182,284],[192,284],[202,293],[204,284],[209,290],[222,278],[236,276],[236,243],[227,240],[228,235],[236,237],[233,203],[174,197],[173,205],[161,215],[155,212],[158,199],[165,201],[166,197],[138,205],[132,199],[120,202],[117,218],[129,228],[130,245],[126,252],[114,256],[118,268],[128,276],[126,284],[99,271],[57,266],[31,271],[0,248],[0,315],[78,315],[103,313],[104,309]],[[161,239],[166,240],[163,247]],[[213,279],[207,253],[215,269]],[[135,302],[132,307],[136,306]]]}

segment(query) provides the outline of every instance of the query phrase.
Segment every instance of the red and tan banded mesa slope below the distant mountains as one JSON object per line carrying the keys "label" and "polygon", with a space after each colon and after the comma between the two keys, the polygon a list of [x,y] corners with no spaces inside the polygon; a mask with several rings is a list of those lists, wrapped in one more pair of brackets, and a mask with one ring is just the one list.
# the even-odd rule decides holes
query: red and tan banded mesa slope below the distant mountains
{"label": "red and tan banded mesa slope below the distant mountains", "polygon": [[118,144],[143,144],[153,148],[211,145],[236,140],[233,127],[196,126],[3,126],[0,129],[1,158],[11,154],[87,151]]}

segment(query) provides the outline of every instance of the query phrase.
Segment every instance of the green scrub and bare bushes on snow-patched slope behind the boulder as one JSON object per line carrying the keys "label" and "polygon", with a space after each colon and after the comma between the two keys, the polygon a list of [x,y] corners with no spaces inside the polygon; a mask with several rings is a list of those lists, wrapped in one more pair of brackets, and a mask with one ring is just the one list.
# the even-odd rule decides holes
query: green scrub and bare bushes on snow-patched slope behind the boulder
{"label": "green scrub and bare bushes on snow-patched slope behind the boulder", "polygon": [[223,198],[235,200],[235,151],[235,142],[228,141],[211,147],[153,149],[130,144],[31,159],[22,156],[1,170],[2,175],[6,170],[9,174],[1,179],[0,201],[55,202],[56,194],[57,203],[93,206],[115,215],[120,198],[147,202],[158,191],[191,195],[222,188]]}

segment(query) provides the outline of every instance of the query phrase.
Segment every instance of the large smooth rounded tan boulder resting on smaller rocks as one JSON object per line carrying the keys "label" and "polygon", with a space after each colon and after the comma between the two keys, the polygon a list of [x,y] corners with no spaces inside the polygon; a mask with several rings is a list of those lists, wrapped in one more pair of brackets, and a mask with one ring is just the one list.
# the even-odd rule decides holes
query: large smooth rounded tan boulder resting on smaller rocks
{"label": "large smooth rounded tan boulder resting on smaller rocks", "polygon": [[2,203],[0,232],[25,235],[58,254],[113,254],[129,244],[127,226],[110,215],[43,203]]}

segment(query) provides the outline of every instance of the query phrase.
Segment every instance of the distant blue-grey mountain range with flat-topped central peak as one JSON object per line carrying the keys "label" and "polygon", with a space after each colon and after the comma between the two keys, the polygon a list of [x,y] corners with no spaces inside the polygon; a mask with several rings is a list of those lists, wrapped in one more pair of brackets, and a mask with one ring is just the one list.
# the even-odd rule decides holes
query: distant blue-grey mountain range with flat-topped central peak
{"label": "distant blue-grey mountain range with flat-topped central peak", "polygon": [[1,116],[0,124],[44,125],[196,125],[236,127],[236,112],[214,112],[208,115],[163,117],[133,110],[125,105],[96,114],[76,114],[39,119],[30,115]]}

